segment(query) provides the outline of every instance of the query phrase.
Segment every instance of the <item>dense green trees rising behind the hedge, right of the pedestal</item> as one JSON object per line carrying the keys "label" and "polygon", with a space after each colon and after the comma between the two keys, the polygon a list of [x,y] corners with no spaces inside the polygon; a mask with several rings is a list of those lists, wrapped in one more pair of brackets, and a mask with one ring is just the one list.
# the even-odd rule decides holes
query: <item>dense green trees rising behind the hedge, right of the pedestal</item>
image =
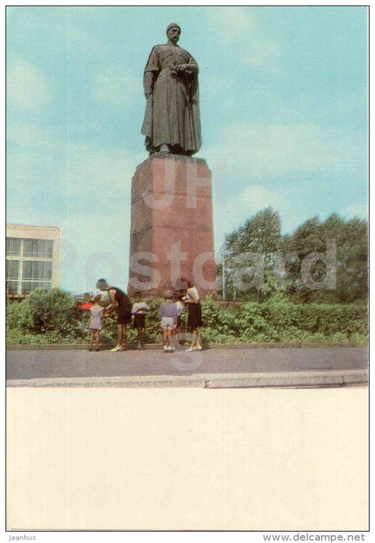
{"label": "dense green trees rising behind the hedge, right of the pedestal", "polygon": [[225,239],[225,298],[366,300],[367,251],[367,220],[345,220],[336,213],[324,221],[315,216],[282,236],[279,215],[266,208]]}

